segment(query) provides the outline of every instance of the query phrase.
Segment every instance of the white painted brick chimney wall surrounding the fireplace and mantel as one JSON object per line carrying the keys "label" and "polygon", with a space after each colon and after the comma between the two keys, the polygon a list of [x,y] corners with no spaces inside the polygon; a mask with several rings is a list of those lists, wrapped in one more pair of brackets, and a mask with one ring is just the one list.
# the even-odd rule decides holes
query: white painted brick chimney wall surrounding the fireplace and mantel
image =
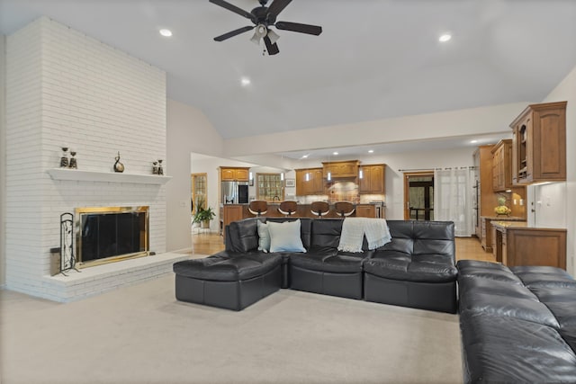
{"label": "white painted brick chimney wall surrounding the fireplace and mantel", "polygon": [[46,172],[66,146],[79,169],[112,172],[120,151],[126,173],[151,174],[166,159],[165,72],[46,17],[8,36],[6,49],[7,287],[47,296],[59,216],[77,207],[149,205],[150,250],[165,252],[165,186]]}

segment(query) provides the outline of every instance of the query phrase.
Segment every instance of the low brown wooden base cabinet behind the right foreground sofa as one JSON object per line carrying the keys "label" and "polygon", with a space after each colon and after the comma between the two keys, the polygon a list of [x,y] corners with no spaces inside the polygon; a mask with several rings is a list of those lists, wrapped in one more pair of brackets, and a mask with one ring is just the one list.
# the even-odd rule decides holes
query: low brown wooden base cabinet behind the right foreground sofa
{"label": "low brown wooden base cabinet behind the right foreground sofa", "polygon": [[550,265],[566,269],[566,229],[530,228],[495,221],[496,261],[508,266]]}

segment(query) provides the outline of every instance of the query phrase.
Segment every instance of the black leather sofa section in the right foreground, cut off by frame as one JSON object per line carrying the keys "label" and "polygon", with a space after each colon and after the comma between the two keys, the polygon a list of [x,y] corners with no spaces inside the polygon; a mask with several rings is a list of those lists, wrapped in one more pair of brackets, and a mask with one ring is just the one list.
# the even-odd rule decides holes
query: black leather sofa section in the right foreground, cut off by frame
{"label": "black leather sofa section in the right foreground, cut off by frame", "polygon": [[457,265],[465,382],[576,383],[576,281],[567,272]]}

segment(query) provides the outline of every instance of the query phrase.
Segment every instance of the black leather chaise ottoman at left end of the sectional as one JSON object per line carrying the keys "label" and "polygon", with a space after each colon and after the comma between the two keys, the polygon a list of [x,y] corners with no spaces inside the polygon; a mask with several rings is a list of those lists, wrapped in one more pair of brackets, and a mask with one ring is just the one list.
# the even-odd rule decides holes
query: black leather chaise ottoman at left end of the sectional
{"label": "black leather chaise ottoman at left end of the sectional", "polygon": [[175,263],[176,299],[211,307],[241,310],[280,289],[282,256],[234,254]]}

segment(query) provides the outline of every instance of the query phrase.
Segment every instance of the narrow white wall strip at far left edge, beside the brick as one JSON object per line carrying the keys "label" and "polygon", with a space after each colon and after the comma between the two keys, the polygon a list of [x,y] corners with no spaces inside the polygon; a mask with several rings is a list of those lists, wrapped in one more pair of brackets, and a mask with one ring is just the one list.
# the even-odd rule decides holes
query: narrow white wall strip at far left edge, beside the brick
{"label": "narrow white wall strip at far left edge, beside the brick", "polygon": [[5,218],[6,218],[6,100],[5,100],[5,36],[0,35],[0,288],[6,281]]}

